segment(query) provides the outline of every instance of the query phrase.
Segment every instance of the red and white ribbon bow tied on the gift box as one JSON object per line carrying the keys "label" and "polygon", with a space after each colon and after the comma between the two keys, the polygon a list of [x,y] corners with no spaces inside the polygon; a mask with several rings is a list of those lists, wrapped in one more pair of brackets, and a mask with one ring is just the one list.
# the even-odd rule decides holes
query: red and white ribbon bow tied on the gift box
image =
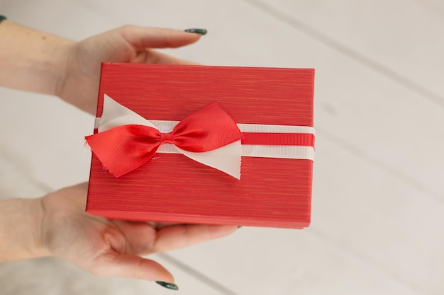
{"label": "red and white ribbon bow tied on the gift box", "polygon": [[[102,119],[106,117],[107,109],[113,109],[114,104],[117,103],[109,96],[105,96]],[[131,115],[135,114],[123,106],[120,107],[117,110],[122,112],[121,117],[125,117],[129,112]],[[91,150],[114,176],[120,177],[142,166],[155,155],[160,145],[173,144],[185,156],[240,178],[240,140],[243,135],[233,119],[218,103],[208,105],[189,115],[169,133],[160,132],[143,117],[140,117],[138,122],[144,125],[112,127],[85,137]],[[231,145],[235,145],[235,148],[229,148]],[[206,156],[196,156],[196,154]],[[217,161],[214,161],[215,155]],[[202,158],[204,161],[201,161]],[[227,172],[225,168],[218,168],[225,166],[221,165],[221,161],[226,161],[228,158],[234,159],[231,168],[226,169],[231,172]],[[215,165],[215,162],[218,163]],[[237,165],[237,171],[233,169],[233,164]]]}

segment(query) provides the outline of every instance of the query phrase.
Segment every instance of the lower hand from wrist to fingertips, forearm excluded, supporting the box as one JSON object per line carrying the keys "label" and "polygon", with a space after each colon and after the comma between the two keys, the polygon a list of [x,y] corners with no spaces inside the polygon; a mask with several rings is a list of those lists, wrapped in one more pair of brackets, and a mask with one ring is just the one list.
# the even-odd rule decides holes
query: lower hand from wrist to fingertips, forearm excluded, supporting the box
{"label": "lower hand from wrist to fingertips, forearm excluded, supporting the box", "polygon": [[237,229],[235,226],[156,224],[109,220],[84,212],[87,183],[41,200],[43,248],[94,274],[174,283],[162,265],[139,255],[184,248]]}

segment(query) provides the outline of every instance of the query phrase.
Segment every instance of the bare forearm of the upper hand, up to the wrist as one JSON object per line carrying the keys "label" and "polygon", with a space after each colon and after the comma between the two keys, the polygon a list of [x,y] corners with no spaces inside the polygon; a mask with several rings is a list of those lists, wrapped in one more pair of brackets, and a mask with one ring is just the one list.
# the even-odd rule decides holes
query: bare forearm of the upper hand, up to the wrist
{"label": "bare forearm of the upper hand, up to the wrist", "polygon": [[56,35],[3,21],[0,40],[0,86],[57,95],[64,80],[69,45]]}

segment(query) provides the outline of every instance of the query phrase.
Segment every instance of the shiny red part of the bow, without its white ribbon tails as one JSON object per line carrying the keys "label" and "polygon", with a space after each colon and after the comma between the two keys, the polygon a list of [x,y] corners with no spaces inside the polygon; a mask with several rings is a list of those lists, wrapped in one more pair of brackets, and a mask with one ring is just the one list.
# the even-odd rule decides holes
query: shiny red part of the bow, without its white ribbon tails
{"label": "shiny red part of the bow, without its white ribbon tails", "polygon": [[85,137],[97,158],[116,177],[142,166],[161,144],[200,153],[242,138],[238,126],[218,103],[189,115],[170,133],[143,125],[123,125]]}

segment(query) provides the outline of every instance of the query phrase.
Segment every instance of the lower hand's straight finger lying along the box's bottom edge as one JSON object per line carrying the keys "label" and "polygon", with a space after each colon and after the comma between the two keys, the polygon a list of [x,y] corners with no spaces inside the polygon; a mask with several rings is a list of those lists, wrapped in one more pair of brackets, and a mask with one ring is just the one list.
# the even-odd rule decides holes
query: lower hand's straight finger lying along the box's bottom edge
{"label": "lower hand's straight finger lying along the box's bottom edge", "polygon": [[177,225],[169,226],[157,232],[152,250],[166,252],[186,248],[196,243],[210,241],[233,233],[237,226],[206,226],[206,225]]}

